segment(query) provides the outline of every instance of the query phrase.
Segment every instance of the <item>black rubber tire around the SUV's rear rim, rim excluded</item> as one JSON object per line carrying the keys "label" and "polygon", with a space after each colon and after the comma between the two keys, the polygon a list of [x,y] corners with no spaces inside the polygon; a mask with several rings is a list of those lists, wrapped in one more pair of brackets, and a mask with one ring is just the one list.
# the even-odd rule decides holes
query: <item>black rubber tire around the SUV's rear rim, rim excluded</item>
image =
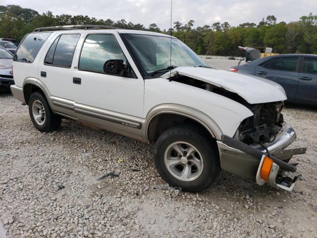
{"label": "black rubber tire around the SUV's rear rim, rim excluded", "polygon": [[[42,125],[36,122],[33,116],[32,106],[35,101],[40,101],[45,110],[45,120]],[[53,113],[46,98],[40,92],[32,93],[29,100],[29,114],[33,125],[41,132],[51,132],[60,126],[61,117]]]}

